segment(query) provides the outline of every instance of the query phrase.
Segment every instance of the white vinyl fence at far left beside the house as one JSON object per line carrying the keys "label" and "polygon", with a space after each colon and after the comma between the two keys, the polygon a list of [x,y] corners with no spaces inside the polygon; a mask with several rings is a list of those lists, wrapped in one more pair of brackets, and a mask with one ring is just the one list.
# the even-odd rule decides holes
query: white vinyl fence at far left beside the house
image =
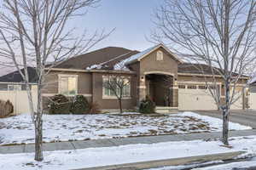
{"label": "white vinyl fence at far left beside the house", "polygon": [[[34,107],[38,105],[38,91],[37,87],[32,87],[32,99]],[[0,91],[0,99],[9,101],[14,105],[14,113],[29,113],[29,102],[27,98],[27,93],[25,90],[15,90],[15,91]]]}

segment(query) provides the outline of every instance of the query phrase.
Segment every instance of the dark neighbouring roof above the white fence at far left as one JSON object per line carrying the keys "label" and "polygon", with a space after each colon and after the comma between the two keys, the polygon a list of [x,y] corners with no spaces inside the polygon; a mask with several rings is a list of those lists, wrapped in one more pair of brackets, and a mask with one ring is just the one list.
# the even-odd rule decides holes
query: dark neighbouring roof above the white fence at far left
{"label": "dark neighbouring roof above the white fence at far left", "polygon": [[[24,73],[24,69],[21,69]],[[37,71],[33,67],[27,67],[29,82],[37,82]],[[19,71],[11,72],[3,77],[0,77],[0,82],[24,82],[22,77],[20,76]]]}

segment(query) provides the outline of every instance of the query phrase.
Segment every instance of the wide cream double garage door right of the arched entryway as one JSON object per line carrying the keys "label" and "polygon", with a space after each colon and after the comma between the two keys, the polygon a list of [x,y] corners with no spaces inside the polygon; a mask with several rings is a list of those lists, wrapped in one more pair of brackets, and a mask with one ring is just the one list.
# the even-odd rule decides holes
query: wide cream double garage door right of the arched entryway
{"label": "wide cream double garage door right of the arched entryway", "polygon": [[217,110],[217,108],[206,89],[178,89],[178,109],[181,111]]}

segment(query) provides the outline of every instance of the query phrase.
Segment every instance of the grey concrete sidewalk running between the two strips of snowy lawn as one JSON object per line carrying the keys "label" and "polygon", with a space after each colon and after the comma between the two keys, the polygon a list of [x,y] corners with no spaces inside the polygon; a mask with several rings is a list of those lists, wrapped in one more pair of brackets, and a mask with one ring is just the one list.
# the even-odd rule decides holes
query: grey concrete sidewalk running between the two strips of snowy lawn
{"label": "grey concrete sidewalk running between the two strips of snowy lawn", "polygon": [[[256,129],[253,130],[241,130],[230,131],[230,137],[237,136],[250,136],[256,135]],[[133,137],[124,139],[96,139],[96,140],[83,140],[83,141],[67,141],[56,143],[43,144],[44,151],[53,150],[79,150],[86,148],[96,147],[111,147],[125,144],[153,144],[160,142],[170,141],[182,141],[182,140],[196,140],[196,139],[219,139],[222,136],[222,132],[214,133],[186,133],[186,134],[173,134],[173,135],[160,135],[160,136],[148,136],[148,137]],[[34,151],[34,144],[19,144],[0,146],[0,154],[12,154],[12,153],[29,153]]]}

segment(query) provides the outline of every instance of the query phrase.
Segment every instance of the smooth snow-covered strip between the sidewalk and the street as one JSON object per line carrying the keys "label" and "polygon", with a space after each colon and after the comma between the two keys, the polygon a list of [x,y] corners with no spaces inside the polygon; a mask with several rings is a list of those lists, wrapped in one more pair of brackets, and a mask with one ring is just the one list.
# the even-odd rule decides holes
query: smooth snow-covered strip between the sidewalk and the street
{"label": "smooth snow-covered strip between the sidewalk and the street", "polygon": [[[33,161],[33,153],[0,155],[1,170],[51,170],[100,167],[138,161],[172,159],[185,156],[246,151],[256,153],[256,136],[230,139],[233,148],[222,146],[221,141],[178,141],[157,144],[130,144],[83,150],[59,150],[44,152],[44,161]],[[168,168],[166,168],[167,170]],[[220,170],[220,169],[219,169]],[[223,170],[223,169],[221,169]]]}

